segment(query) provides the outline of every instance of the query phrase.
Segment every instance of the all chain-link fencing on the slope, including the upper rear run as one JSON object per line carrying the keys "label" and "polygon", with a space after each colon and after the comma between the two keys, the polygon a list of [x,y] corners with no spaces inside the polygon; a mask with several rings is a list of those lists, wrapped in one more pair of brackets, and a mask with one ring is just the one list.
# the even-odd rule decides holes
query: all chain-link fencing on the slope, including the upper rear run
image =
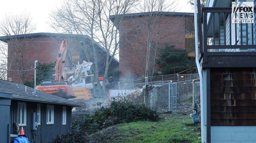
{"label": "all chain-link fencing on the slope, including the upper rear run", "polygon": [[108,93],[105,92],[103,97],[121,96],[129,101],[145,103],[159,112],[192,113],[193,92],[194,103],[200,110],[200,83],[199,80],[193,80],[198,78],[198,74],[175,74],[153,76],[151,82],[146,83],[145,78],[114,82],[112,85],[106,84]]}

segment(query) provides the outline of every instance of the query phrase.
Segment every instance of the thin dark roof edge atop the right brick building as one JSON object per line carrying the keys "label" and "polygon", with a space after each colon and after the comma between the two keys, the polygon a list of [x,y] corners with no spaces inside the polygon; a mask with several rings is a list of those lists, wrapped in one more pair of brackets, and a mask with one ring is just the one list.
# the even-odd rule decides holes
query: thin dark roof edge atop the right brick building
{"label": "thin dark roof edge atop the right brick building", "polygon": [[164,11],[153,11],[153,12],[138,12],[138,13],[129,13],[129,14],[119,14],[119,15],[111,15],[109,18],[111,20],[115,19],[116,17],[136,17],[136,16],[146,16],[146,15],[173,15],[173,16],[194,16],[194,13],[188,12],[164,12]]}

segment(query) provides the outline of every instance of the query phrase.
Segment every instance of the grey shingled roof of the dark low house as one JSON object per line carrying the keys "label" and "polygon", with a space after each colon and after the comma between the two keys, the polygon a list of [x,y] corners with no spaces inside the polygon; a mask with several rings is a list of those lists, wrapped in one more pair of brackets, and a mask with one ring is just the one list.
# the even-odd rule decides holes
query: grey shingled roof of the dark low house
{"label": "grey shingled roof of the dark low house", "polygon": [[[27,93],[25,93],[25,88]],[[39,90],[36,90],[36,95],[33,95],[32,92],[34,92],[34,88],[26,87],[25,85],[6,80],[0,80],[0,91],[12,93],[13,99],[15,100],[61,104],[75,107],[83,105],[75,101],[71,101]]]}

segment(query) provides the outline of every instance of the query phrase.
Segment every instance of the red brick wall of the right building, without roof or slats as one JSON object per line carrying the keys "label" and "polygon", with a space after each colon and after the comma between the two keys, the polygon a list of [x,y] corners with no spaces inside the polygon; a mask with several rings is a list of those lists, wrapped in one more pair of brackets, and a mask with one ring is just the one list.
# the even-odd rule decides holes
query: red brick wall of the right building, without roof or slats
{"label": "red brick wall of the right building, without roof or slats", "polygon": [[[185,49],[185,17],[164,16],[161,17],[160,25],[154,24],[156,17],[153,17],[151,29],[158,29],[160,26],[159,48],[165,44],[175,45],[175,48]],[[119,69],[120,78],[137,78],[145,75],[146,53],[147,53],[147,26],[144,16],[126,17],[122,19],[120,29]],[[152,32],[156,33],[156,32]],[[153,36],[153,44],[157,36]],[[150,65],[151,66],[151,65]],[[150,67],[149,67],[150,68]],[[159,68],[156,65],[155,72]]]}

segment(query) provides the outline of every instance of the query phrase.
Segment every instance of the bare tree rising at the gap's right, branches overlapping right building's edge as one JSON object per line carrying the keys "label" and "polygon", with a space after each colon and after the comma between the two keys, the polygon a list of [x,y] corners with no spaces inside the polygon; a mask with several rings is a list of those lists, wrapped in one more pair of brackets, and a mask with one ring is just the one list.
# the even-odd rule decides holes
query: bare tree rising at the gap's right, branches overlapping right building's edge
{"label": "bare tree rising at the gap's right, branches overlapping right building's edge", "polygon": [[[137,0],[98,0],[99,21],[97,22],[97,25],[100,28],[100,34],[97,39],[100,41],[99,44],[104,47],[107,52],[103,83],[107,78],[109,65],[119,48],[119,41],[121,39],[119,37],[118,28],[120,21],[125,14],[134,10],[134,6],[137,2]],[[110,15],[115,18],[109,19]]]}

